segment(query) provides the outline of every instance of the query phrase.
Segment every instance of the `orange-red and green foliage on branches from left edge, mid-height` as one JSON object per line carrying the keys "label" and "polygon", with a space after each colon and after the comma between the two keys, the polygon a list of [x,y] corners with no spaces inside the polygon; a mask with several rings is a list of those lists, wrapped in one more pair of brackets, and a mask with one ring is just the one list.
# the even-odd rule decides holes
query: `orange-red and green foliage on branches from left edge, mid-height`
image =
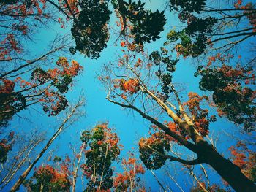
{"label": "orange-red and green foliage on branches from left edge, mid-height", "polygon": [[[13,93],[14,96],[15,93],[22,93],[23,98],[26,99],[26,105],[30,105],[31,102],[29,101],[31,98],[34,98],[31,101],[33,101],[33,103],[39,102],[42,104],[43,110],[49,112],[49,115],[58,115],[59,112],[67,107],[67,99],[62,93],[67,93],[72,83],[72,78],[77,76],[83,69],[78,62],[72,61],[71,63],[72,64],[68,63],[67,58],[60,57],[59,60],[56,61],[58,67],[54,69],[48,69],[47,71],[41,68],[35,69],[31,73],[31,82],[23,80],[21,77],[17,77],[13,82],[11,80],[1,79],[0,93]],[[17,90],[14,90],[14,88],[17,88]],[[1,110],[5,111],[7,107],[13,108],[11,101],[13,102],[13,99],[1,101],[5,103],[6,106],[4,107],[5,109]],[[17,112],[20,109],[14,108],[12,110],[16,110]],[[8,110],[8,112],[12,111]]]}

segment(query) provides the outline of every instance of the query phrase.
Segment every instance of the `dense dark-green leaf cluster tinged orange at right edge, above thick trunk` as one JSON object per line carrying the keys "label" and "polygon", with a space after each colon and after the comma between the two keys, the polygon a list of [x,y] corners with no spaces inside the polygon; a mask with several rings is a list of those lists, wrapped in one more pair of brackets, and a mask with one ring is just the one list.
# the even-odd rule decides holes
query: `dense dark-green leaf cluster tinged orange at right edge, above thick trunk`
{"label": "dense dark-green leaf cluster tinged orange at right edge, above thick trunk", "polygon": [[255,93],[242,85],[245,73],[243,69],[233,69],[231,66],[200,70],[200,89],[214,92],[213,99],[220,110],[219,115],[225,115],[238,124],[244,123],[244,129],[252,131],[256,120],[256,107],[252,105]]}

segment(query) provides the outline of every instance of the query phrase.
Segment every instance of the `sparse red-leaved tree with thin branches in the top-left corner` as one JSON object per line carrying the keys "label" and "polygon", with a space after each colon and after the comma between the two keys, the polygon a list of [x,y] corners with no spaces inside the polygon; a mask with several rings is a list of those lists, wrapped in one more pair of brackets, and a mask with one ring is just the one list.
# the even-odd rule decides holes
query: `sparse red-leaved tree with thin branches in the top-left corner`
{"label": "sparse red-leaved tree with thin branches in the top-left corner", "polygon": [[34,26],[44,26],[53,17],[45,1],[38,0],[1,0],[0,14],[0,62],[5,66],[23,61],[21,54],[26,50],[23,39],[31,40]]}

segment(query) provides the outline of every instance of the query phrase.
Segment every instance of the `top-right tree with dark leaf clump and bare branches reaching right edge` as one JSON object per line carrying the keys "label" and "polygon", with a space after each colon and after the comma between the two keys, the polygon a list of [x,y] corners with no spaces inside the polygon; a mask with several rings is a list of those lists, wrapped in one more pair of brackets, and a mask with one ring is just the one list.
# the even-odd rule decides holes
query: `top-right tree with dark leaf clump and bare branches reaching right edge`
{"label": "top-right tree with dark leaf clump and bare branches reaching right edge", "polygon": [[[181,31],[171,30],[167,36],[167,43],[175,43],[178,55],[197,57],[206,50],[227,51],[256,35],[256,9],[252,2],[239,0],[234,7],[218,9],[206,0],[170,0],[170,10],[177,11],[179,20],[185,25]],[[178,39],[181,42],[176,43]]]}

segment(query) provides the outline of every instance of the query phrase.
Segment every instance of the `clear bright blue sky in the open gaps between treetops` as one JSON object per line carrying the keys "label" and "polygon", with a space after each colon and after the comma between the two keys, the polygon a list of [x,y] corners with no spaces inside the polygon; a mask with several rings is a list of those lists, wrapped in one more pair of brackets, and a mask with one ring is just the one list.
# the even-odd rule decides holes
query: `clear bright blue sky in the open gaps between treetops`
{"label": "clear bright blue sky in the open gaps between treetops", "polygon": [[[154,9],[163,9],[162,1],[147,1],[147,7]],[[113,13],[114,15],[114,13]],[[112,17],[114,18],[114,17]],[[110,23],[113,23],[115,20],[110,20]],[[172,27],[178,26],[178,19],[176,15],[170,15],[170,12],[167,12],[167,25],[165,26],[165,31],[162,32],[161,37],[157,42],[151,43],[151,45],[146,45],[149,52],[151,50],[158,50],[162,43],[165,41],[166,34],[168,30]],[[167,30],[168,29],[168,30]],[[42,53],[42,50],[45,48],[49,40],[54,39],[56,34],[68,34],[69,28],[61,29],[59,24],[53,24],[50,28],[42,28],[38,34],[35,35],[37,41],[31,43],[29,45],[31,49],[31,55]],[[56,155],[64,156],[65,154],[70,154],[71,150],[69,149],[69,144],[80,142],[80,132],[95,126],[97,123],[109,122],[110,127],[116,128],[116,133],[118,137],[121,139],[121,144],[124,145],[124,151],[121,152],[121,156],[125,156],[132,147],[135,147],[135,151],[138,153],[138,139],[147,134],[149,123],[146,120],[140,118],[139,115],[127,112],[125,110],[121,110],[121,107],[118,107],[115,104],[111,104],[109,101],[105,99],[106,93],[104,88],[102,88],[101,83],[97,80],[97,73],[100,72],[102,64],[108,63],[108,61],[113,61],[113,58],[116,57],[118,47],[113,45],[116,37],[112,36],[110,41],[108,42],[108,47],[100,53],[101,57],[97,60],[91,60],[89,58],[85,58],[80,53],[75,54],[74,60],[78,61],[83,67],[83,73],[76,78],[75,85],[70,89],[69,93],[67,93],[67,99],[69,99],[70,103],[75,103],[78,100],[80,92],[83,91],[84,96],[86,98],[86,105],[84,107],[85,116],[80,117],[77,122],[75,122],[72,126],[67,128],[56,141],[53,142],[53,145],[50,147],[50,150],[54,150]],[[194,61],[190,59],[181,59],[178,63],[177,70],[173,75],[174,82],[182,82],[187,84],[187,93],[190,91],[199,91],[198,89],[198,79],[194,77],[195,72],[195,64],[192,64]],[[187,97],[187,93],[184,93],[184,98]],[[37,108],[37,107],[36,107]],[[19,130],[21,132],[29,132],[34,128],[39,128],[40,130],[47,131],[47,137],[53,134],[54,128],[56,128],[61,122],[61,116],[64,116],[62,113],[59,117],[48,118],[47,115],[39,109],[39,112],[36,110],[26,110],[19,113],[20,116],[29,118],[31,122],[28,120],[23,120],[18,117],[15,117],[12,120],[11,126],[9,129]],[[220,131],[222,133],[221,128],[229,128],[232,127],[233,124],[228,123],[227,120],[219,120],[217,123],[214,123],[212,127],[214,128],[214,134],[218,135]],[[229,131],[229,129],[227,129]],[[219,139],[224,138],[223,134],[219,135]],[[230,140],[226,139],[225,142],[220,144],[219,150],[220,152],[225,153],[228,147],[230,147]],[[39,149],[37,150],[39,152]],[[47,155],[45,154],[45,157]],[[36,166],[42,164],[42,161],[45,159],[41,159]],[[177,164],[175,164],[176,167]],[[156,172],[160,179],[163,180],[162,170]],[[172,171],[170,170],[170,173]],[[32,174],[32,173],[31,173]],[[31,175],[30,174],[30,175]],[[210,173],[212,174],[212,173]],[[217,177],[213,177],[211,180],[212,183],[214,181],[219,181]],[[151,173],[148,172],[145,177],[146,186],[151,187],[151,191],[159,191],[159,185],[157,184],[154,177],[152,177]],[[191,185],[186,186],[184,184],[184,180],[188,180],[187,176],[179,176],[178,183],[182,185],[185,191],[188,191]],[[192,181],[191,178],[189,179]],[[78,183],[78,191],[80,191]],[[176,185],[171,183],[173,191],[178,191]],[[24,191],[21,189],[20,191]]]}

